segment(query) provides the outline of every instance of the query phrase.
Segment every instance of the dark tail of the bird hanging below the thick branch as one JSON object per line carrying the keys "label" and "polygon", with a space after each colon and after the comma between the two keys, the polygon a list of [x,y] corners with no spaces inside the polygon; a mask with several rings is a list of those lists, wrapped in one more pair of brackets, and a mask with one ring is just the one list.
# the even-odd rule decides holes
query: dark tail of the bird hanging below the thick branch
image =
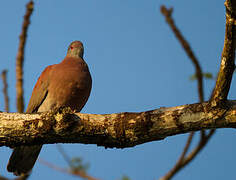
{"label": "dark tail of the bird hanging below the thick branch", "polygon": [[7,170],[13,172],[16,176],[28,174],[33,168],[41,148],[41,145],[15,148],[9,159]]}

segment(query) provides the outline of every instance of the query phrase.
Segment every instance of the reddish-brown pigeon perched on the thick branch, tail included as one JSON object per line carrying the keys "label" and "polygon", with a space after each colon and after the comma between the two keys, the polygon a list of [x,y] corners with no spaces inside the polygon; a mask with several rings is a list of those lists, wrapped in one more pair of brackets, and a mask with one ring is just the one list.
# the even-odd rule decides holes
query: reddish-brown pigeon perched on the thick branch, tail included
{"label": "reddish-brown pigeon perched on the thick branch, tail included", "polygon": [[[45,112],[60,107],[70,107],[79,112],[84,107],[90,95],[92,78],[83,54],[83,44],[74,41],[61,63],[48,66],[42,72],[33,89],[26,113]],[[15,175],[29,173],[41,148],[42,145],[15,148],[7,170]]]}

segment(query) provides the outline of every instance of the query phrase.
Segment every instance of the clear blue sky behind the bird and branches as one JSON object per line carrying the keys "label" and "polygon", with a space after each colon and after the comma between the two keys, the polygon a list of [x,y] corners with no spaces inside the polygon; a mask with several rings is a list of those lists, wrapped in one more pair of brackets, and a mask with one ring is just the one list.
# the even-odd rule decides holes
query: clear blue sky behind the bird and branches
{"label": "clear blue sky behind the bird and branches", "polygon": [[[1,2],[0,70],[9,70],[12,112],[16,111],[15,58],[27,2]],[[224,40],[222,0],[36,1],[24,64],[26,104],[40,73],[46,66],[60,62],[73,40],[84,43],[85,60],[93,77],[84,113],[138,112],[197,102],[196,82],[189,80],[194,68],[165,23],[159,11],[162,4],[174,7],[176,24],[191,43],[203,70],[216,75]],[[214,81],[205,80],[204,86],[208,97]],[[236,99],[235,92],[233,79],[231,99]],[[3,110],[2,93],[0,99]],[[178,135],[122,150],[83,144],[63,147],[71,157],[89,162],[88,172],[94,177],[118,180],[125,174],[132,180],[153,180],[173,166],[186,138]],[[174,179],[235,179],[235,151],[235,130],[218,130],[197,159]],[[13,177],[6,172],[10,153],[9,148],[0,148],[0,174],[7,177]],[[55,145],[45,145],[40,158],[66,167]],[[30,179],[75,177],[37,162]]]}

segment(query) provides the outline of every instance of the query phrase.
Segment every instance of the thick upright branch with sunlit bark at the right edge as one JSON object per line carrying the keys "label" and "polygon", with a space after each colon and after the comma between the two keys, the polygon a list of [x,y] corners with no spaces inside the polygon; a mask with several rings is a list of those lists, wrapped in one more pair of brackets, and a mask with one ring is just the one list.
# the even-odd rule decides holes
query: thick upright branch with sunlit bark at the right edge
{"label": "thick upright branch with sunlit bark at the right edge", "polygon": [[235,43],[236,43],[236,2],[226,0],[226,25],[224,48],[221,56],[220,71],[217,76],[216,86],[213,91],[211,101],[212,105],[217,105],[227,99],[230,84],[235,69]]}

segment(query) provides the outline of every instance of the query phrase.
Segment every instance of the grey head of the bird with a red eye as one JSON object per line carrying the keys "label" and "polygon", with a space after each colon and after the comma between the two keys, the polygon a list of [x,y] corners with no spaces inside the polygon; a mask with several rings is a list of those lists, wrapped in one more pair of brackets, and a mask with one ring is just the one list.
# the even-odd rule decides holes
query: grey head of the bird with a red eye
{"label": "grey head of the bird with a red eye", "polygon": [[84,46],[80,41],[73,41],[68,47],[67,57],[83,58]]}

